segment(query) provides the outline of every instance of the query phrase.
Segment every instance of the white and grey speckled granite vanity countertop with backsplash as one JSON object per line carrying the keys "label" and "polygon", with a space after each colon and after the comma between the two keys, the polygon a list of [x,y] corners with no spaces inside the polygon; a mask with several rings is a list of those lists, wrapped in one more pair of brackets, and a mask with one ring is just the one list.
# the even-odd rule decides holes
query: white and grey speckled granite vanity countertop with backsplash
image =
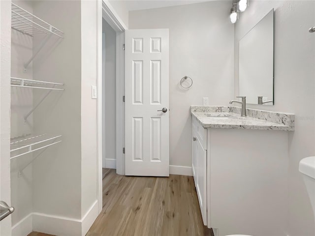
{"label": "white and grey speckled granite vanity countertop with backsplash", "polygon": [[191,115],[204,128],[294,130],[294,114],[246,109],[241,117],[240,107],[191,106]]}

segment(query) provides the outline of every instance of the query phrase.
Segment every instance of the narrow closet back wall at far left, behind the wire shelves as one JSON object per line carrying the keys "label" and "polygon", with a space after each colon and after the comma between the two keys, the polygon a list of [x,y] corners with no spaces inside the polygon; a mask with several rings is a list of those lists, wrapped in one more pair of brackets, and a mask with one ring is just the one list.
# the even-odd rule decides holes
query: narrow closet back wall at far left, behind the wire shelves
{"label": "narrow closet back wall at far left, behind the wire shelves", "polygon": [[[32,12],[31,1],[13,1],[20,7]],[[24,63],[32,57],[32,37],[11,30],[11,76],[32,79],[32,63],[23,72]],[[32,115],[24,123],[24,116],[32,110],[33,89],[12,87],[11,89],[11,138],[33,133]],[[28,154],[11,161],[11,204],[15,207],[12,226],[32,212],[32,161]],[[20,170],[21,176],[18,177]]]}

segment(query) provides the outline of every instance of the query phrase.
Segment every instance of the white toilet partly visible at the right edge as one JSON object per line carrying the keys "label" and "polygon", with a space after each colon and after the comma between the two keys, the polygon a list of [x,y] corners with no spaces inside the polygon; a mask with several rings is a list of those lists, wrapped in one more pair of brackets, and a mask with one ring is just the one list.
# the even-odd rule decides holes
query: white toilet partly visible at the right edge
{"label": "white toilet partly visible at the right edge", "polygon": [[311,200],[315,217],[315,156],[302,159],[300,161],[299,171],[303,174],[304,183]]}

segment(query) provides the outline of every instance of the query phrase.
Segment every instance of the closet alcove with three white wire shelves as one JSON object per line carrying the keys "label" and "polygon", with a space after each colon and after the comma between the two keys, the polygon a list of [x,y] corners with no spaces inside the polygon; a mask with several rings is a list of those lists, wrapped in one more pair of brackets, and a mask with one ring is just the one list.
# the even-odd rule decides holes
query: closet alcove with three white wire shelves
{"label": "closet alcove with three white wire shelves", "polygon": [[71,181],[80,175],[79,7],[75,1],[11,3],[12,235],[43,232],[36,214],[81,214],[67,207],[67,196],[78,195]]}

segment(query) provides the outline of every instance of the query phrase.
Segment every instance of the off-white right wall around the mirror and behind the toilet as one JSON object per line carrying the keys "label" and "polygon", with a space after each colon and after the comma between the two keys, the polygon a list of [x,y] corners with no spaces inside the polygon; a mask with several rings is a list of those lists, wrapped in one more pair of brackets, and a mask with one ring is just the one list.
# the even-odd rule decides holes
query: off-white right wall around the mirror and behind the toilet
{"label": "off-white right wall around the mirror and behind the toilet", "polygon": [[299,161],[315,155],[315,1],[250,1],[235,24],[235,95],[238,95],[238,41],[272,8],[275,26],[274,106],[250,108],[295,114],[289,133],[288,235],[315,235],[312,207],[298,171]]}

